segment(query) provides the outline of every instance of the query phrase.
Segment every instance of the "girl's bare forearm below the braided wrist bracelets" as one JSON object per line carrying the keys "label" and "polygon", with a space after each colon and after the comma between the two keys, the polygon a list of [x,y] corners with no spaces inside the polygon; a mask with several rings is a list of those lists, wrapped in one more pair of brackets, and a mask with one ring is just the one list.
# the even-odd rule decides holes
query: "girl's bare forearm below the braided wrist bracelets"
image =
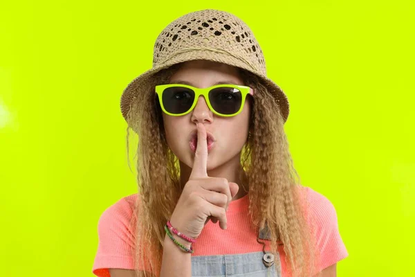
{"label": "girl's bare forearm below the braided wrist bracelets", "polygon": [[[174,238],[189,248],[190,244],[174,235]],[[163,247],[160,277],[191,277],[192,254],[181,250],[166,234]]]}

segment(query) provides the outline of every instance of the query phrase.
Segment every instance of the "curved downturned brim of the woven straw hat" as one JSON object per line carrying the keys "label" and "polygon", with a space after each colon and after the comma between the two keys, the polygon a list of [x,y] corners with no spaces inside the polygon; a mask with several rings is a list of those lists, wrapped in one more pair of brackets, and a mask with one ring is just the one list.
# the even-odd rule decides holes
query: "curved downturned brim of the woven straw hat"
{"label": "curved downturned brim of the woven straw hat", "polygon": [[284,91],[282,91],[282,89],[277,84],[275,84],[273,80],[270,80],[266,75],[258,73],[255,71],[255,69],[252,69],[248,63],[239,60],[237,57],[233,57],[228,53],[217,53],[216,51],[210,51],[208,49],[199,51],[191,50],[184,53],[178,53],[177,55],[174,55],[174,57],[169,58],[169,60],[164,61],[163,64],[154,66],[152,69],[146,71],[145,73],[138,75],[137,78],[132,80],[127,85],[121,96],[121,112],[122,116],[124,116],[124,119],[127,120],[127,113],[130,109],[131,102],[136,99],[136,93],[151,93],[151,91],[142,91],[142,89],[140,89],[143,82],[147,81],[149,78],[153,78],[154,74],[158,71],[166,69],[167,67],[174,64],[191,60],[210,60],[212,62],[221,62],[223,64],[229,64],[231,66],[240,67],[241,69],[246,69],[247,71],[259,76],[259,78],[261,78],[261,80],[264,82],[264,85],[268,88],[268,91],[270,91],[270,93],[272,93],[275,97],[284,118],[284,122],[286,122],[288,119],[288,99]]}

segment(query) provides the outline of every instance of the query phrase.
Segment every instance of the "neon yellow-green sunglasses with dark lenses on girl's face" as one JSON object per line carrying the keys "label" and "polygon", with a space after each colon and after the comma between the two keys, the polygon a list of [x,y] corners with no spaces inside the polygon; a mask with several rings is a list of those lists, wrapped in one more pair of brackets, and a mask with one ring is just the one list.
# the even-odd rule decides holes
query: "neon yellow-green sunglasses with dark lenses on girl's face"
{"label": "neon yellow-green sunglasses with dark lenses on girl's face", "polygon": [[199,89],[187,84],[161,84],[156,86],[161,109],[169,116],[184,116],[196,107],[203,96],[209,109],[218,116],[236,116],[243,109],[246,96],[254,95],[250,87],[237,84],[218,84]]}

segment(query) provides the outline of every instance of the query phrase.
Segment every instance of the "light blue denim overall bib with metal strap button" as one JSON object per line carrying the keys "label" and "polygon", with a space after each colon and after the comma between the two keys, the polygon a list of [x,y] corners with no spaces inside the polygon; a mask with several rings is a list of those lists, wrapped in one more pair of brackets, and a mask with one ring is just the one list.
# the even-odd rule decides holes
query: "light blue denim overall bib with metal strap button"
{"label": "light blue denim overall bib with metal strap button", "polygon": [[[265,248],[260,240],[269,240],[268,229],[259,231],[257,239]],[[279,253],[263,250],[234,255],[193,256],[192,277],[281,277]]]}

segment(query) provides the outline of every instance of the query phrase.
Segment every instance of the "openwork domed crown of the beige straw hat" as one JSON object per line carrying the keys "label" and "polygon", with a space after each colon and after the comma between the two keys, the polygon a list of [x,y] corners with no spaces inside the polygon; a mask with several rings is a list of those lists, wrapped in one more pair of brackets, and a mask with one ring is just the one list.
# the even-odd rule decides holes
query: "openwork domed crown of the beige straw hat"
{"label": "openwork domed crown of the beige straw hat", "polygon": [[252,30],[229,12],[200,10],[172,21],[156,39],[153,66],[163,66],[187,51],[226,53],[266,75],[264,54]]}

